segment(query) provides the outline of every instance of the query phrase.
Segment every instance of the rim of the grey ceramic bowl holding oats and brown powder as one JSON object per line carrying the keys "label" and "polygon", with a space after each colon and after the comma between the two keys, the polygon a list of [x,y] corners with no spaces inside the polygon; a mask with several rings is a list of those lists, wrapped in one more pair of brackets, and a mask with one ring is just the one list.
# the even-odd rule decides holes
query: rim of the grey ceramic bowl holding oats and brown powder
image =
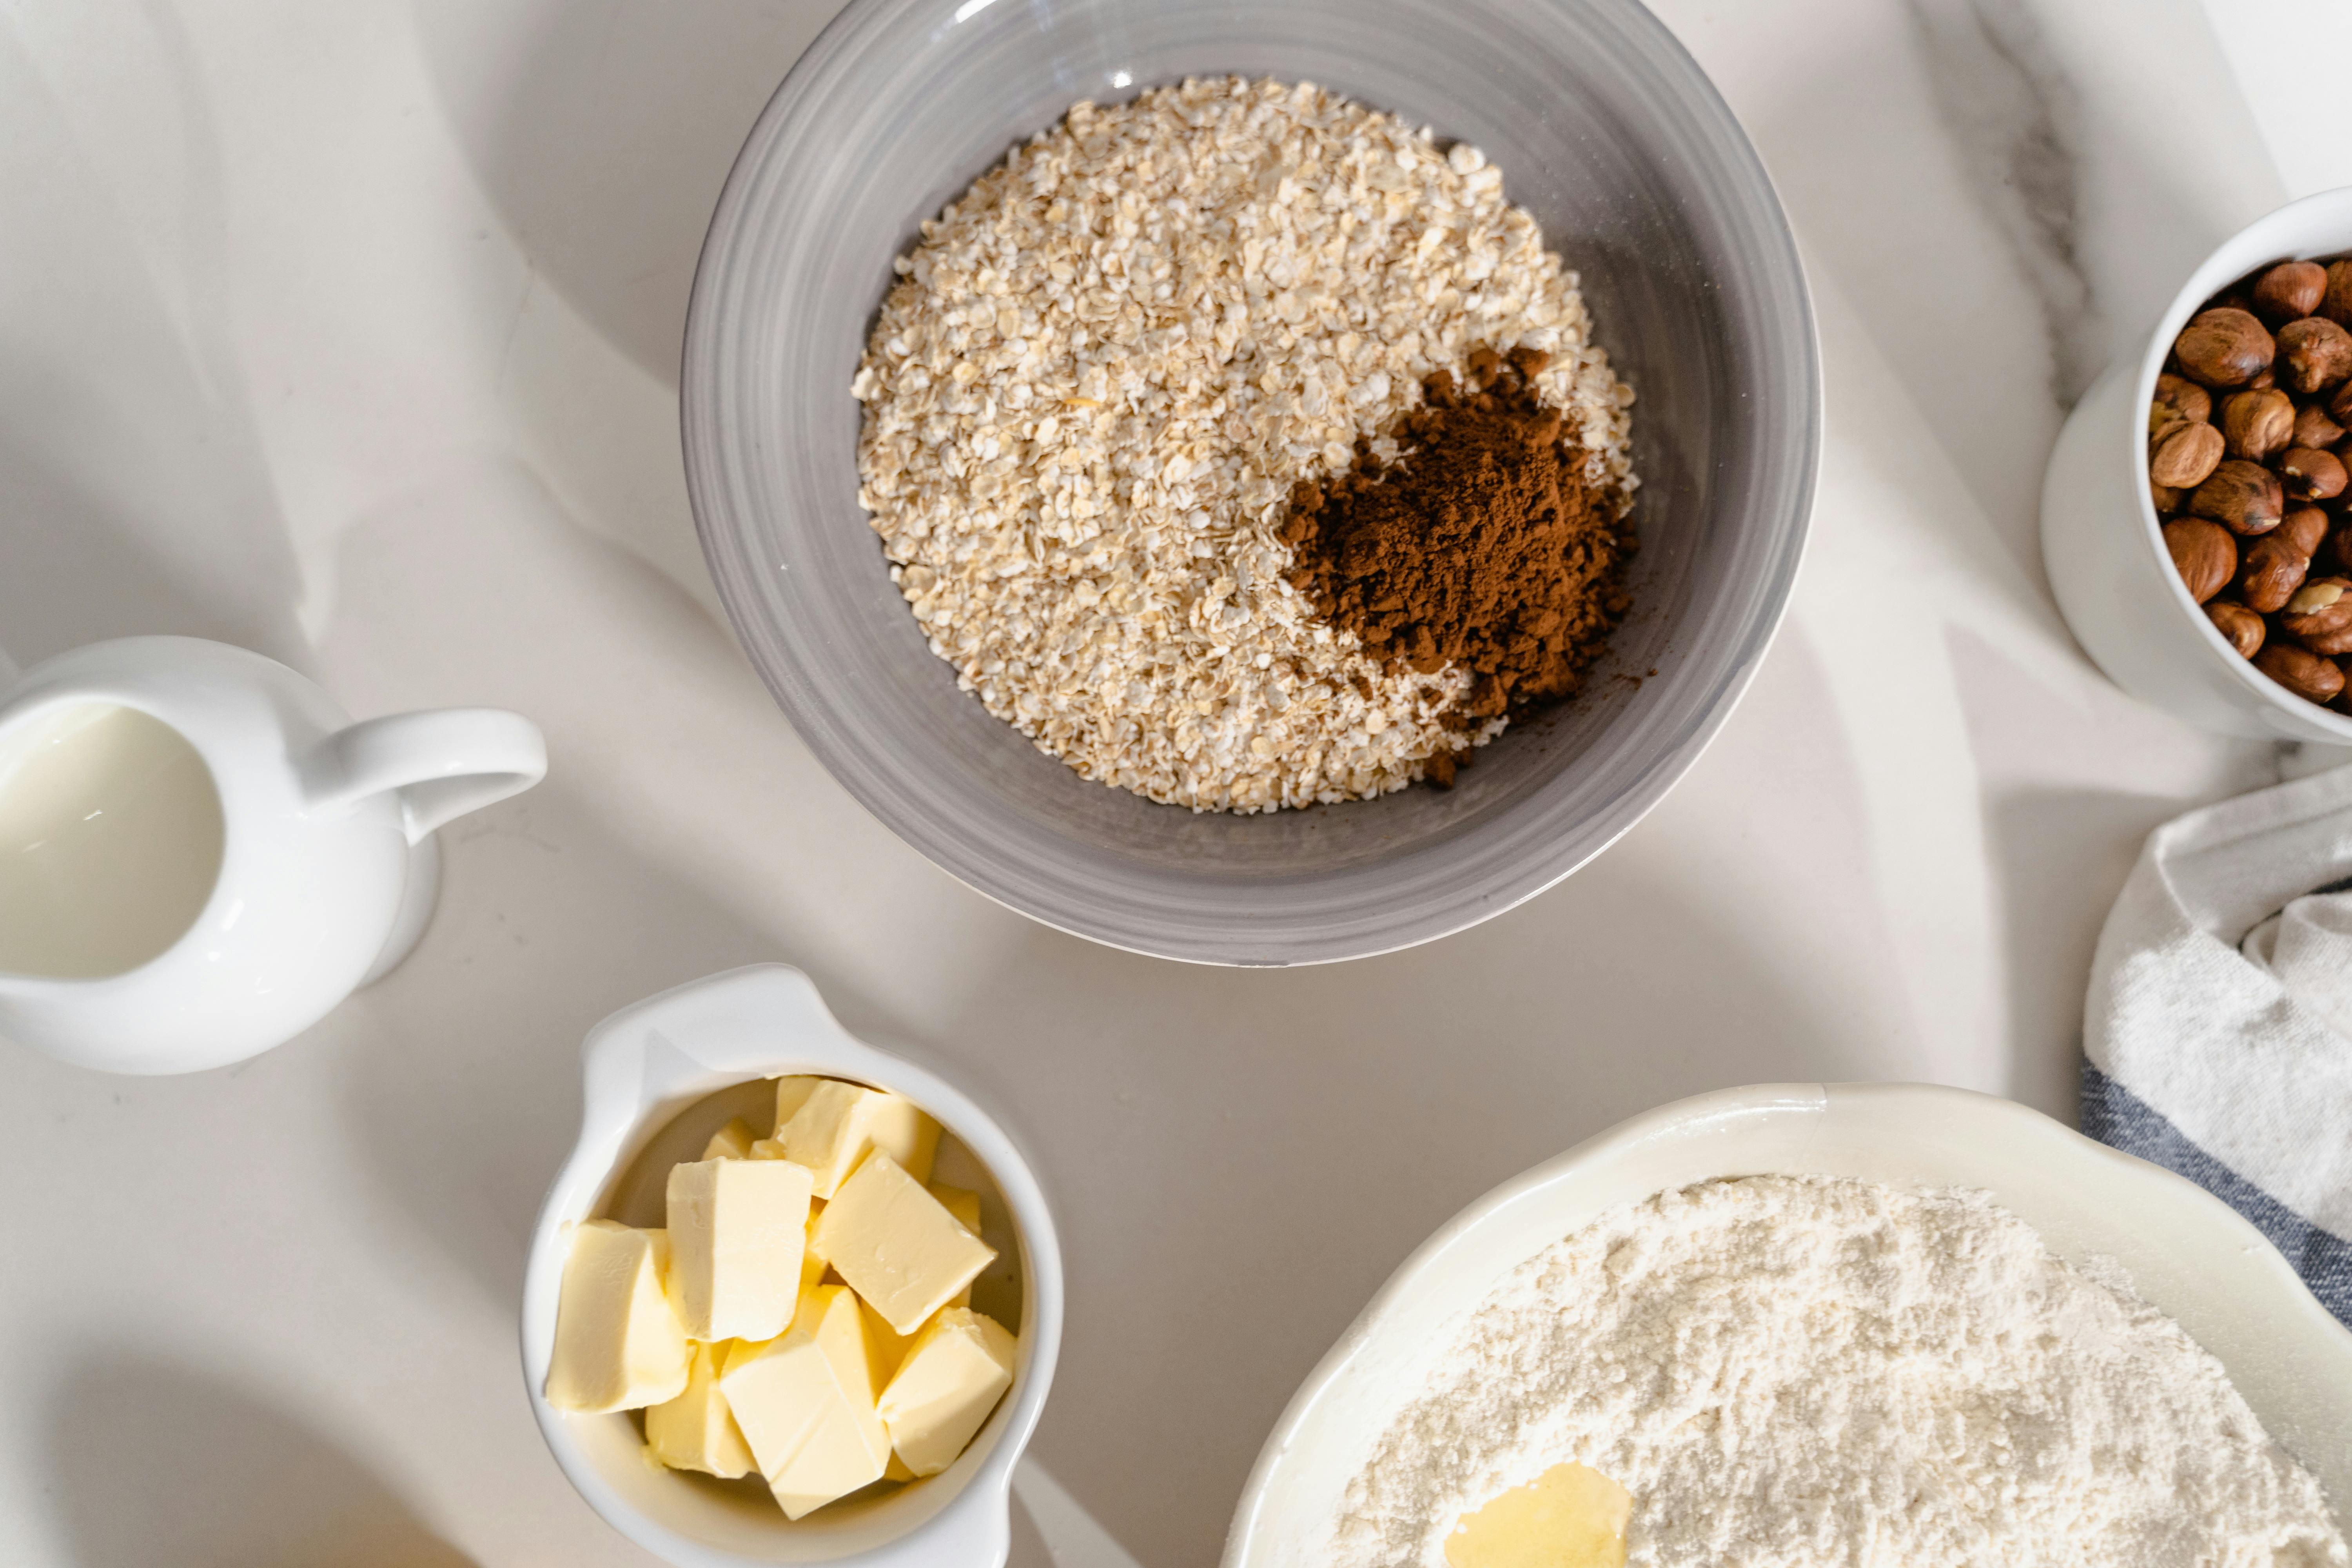
{"label": "rim of the grey ceramic bowl holding oats and brown powder", "polygon": [[[1439,882],[1421,889],[1414,898],[1395,900],[1395,907],[1381,910],[1376,919],[1355,910],[1341,914],[1305,900],[1277,914],[1272,903],[1291,898],[1301,886],[1343,886],[1371,867],[1397,865],[1399,856],[1395,853],[1362,867],[1303,872],[1251,886],[1247,896],[1218,898],[1214,914],[1188,914],[1181,929],[1164,917],[1164,910],[1157,919],[1136,914],[1136,898],[1089,898],[1080,893],[1075,877],[1009,886],[1007,853],[990,844],[988,835],[969,832],[953,820],[934,820],[931,809],[903,799],[903,780],[894,778],[896,769],[884,769],[861,755],[861,748],[842,731],[835,705],[823,696],[821,682],[804,661],[793,658],[790,651],[764,646],[764,637],[753,628],[769,621],[755,590],[767,569],[750,555],[753,527],[739,515],[736,498],[729,494],[727,456],[720,440],[722,409],[734,397],[720,374],[727,348],[722,317],[729,315],[739,296],[753,289],[746,275],[750,249],[741,240],[750,228],[767,169],[779,162],[779,146],[790,146],[793,139],[807,134],[807,127],[800,125],[802,118],[814,120],[807,101],[816,96],[830,73],[884,31],[920,31],[922,19],[936,21],[950,9],[955,19],[962,19],[981,7],[969,0],[960,7],[950,0],[851,0],[818,33],[769,99],[727,174],[703,237],[687,308],[680,435],[696,534],[739,642],[809,752],[851,799],[964,886],[1056,931],[1148,957],[1242,966],[1376,957],[1491,919],[1588,865],[1672,790],[1731,717],[1788,616],[1818,494],[1825,390],[1820,334],[1804,256],[1755,143],[1712,80],[1663,21],[1637,0],[1538,0],[1538,5],[1581,12],[1632,40],[1649,68],[1672,75],[1682,113],[1722,155],[1724,186],[1736,193],[1736,209],[1752,228],[1752,235],[1745,230],[1743,235],[1759,247],[1748,273],[1757,280],[1755,287],[1764,296],[1771,320],[1766,331],[1773,336],[1776,364],[1766,376],[1783,393],[1776,402],[1785,409],[1788,421],[1785,442],[1776,442],[1773,456],[1759,461],[1759,473],[1766,475],[1764,494],[1750,508],[1771,520],[1773,534],[1759,550],[1764,569],[1752,574],[1755,590],[1740,611],[1745,625],[1738,628],[1738,642],[1708,651],[1700,670],[1705,686],[1693,696],[1691,717],[1679,729],[1658,736],[1656,755],[1630,771],[1613,797],[1597,802],[1590,816],[1578,818],[1573,832],[1550,835],[1534,853],[1482,870],[1475,886]],[[1143,92],[1150,85],[1150,80],[1138,80],[1134,87]],[[1181,806],[1167,809],[1181,811]]]}

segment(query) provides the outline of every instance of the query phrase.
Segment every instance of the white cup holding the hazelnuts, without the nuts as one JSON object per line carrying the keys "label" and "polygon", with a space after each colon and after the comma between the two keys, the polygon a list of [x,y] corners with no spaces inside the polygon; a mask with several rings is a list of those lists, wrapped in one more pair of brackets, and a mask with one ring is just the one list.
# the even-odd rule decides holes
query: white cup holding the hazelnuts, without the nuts
{"label": "white cup holding the hazelnuts, without the nuts", "polygon": [[2199,729],[2352,745],[2352,717],[2305,703],[2239,658],[2180,585],[2147,491],[2147,400],[2206,299],[2296,256],[2352,252],[2352,188],[2279,207],[2206,256],[2138,360],[2119,360],[2058,433],[2042,480],[2042,562],[2074,639],[2107,677]]}

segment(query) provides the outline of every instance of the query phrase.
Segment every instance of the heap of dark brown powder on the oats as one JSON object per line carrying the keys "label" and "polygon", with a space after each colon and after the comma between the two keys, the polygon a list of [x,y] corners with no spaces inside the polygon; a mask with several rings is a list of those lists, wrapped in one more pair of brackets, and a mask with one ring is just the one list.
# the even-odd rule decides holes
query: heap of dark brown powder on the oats
{"label": "heap of dark brown powder on the oats", "polygon": [[[1475,675],[1461,729],[1573,693],[1628,604],[1632,529],[1529,386],[1543,364],[1479,348],[1463,383],[1437,371],[1388,433],[1397,461],[1359,442],[1355,468],[1291,494],[1282,529],[1291,585],[1374,658]],[[1428,773],[1454,783],[1468,759],[1439,752]]]}

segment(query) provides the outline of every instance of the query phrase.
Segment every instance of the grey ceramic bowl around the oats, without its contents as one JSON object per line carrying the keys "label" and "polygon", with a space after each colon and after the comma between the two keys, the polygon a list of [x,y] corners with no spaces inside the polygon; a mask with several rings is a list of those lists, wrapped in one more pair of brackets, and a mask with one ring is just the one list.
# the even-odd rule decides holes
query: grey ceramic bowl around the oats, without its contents
{"label": "grey ceramic bowl around the oats, without its contents", "polygon": [[[1484,148],[1639,395],[1635,614],[1588,696],[1515,724],[1451,792],[1195,816],[1087,783],[955,689],[856,503],[849,376],[917,223],[1077,99],[1216,73],[1319,82]],[[720,197],[682,404],[720,595],[833,776],[990,898],[1218,964],[1423,943],[1606,849],[1755,672],[1820,444],[1780,205],[1635,0],[851,0]]]}

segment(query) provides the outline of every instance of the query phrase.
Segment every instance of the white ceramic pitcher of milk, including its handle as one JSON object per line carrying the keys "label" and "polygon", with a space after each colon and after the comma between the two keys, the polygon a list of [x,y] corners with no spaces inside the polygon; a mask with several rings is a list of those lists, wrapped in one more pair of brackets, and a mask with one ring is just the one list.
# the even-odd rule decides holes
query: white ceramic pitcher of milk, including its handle
{"label": "white ceramic pitcher of milk, including its handle", "polygon": [[[0,950],[0,1037],[108,1072],[219,1067],[318,1023],[423,936],[440,891],[433,830],[548,769],[546,741],[522,715],[452,708],[353,724],[313,682],[259,654],[125,637],[61,654],[0,691],[0,825],[33,823],[19,842],[0,837],[0,858],[40,851],[42,820],[78,825],[78,804],[61,802],[89,769],[56,757],[94,726],[146,748],[143,776],[174,790],[169,811],[151,809],[136,832],[103,844],[103,882],[127,879],[127,896],[71,910],[92,931],[80,947],[61,936],[66,914],[38,898],[0,910],[14,922],[14,950]],[[9,818],[12,788],[47,790],[47,816]],[[139,806],[134,792],[125,813]],[[82,820],[103,809],[111,799],[94,797]],[[45,886],[87,863],[45,870]],[[68,903],[59,896],[56,910]],[[153,950],[139,945],[141,922],[169,926]],[[49,933],[59,940],[45,943]]]}

